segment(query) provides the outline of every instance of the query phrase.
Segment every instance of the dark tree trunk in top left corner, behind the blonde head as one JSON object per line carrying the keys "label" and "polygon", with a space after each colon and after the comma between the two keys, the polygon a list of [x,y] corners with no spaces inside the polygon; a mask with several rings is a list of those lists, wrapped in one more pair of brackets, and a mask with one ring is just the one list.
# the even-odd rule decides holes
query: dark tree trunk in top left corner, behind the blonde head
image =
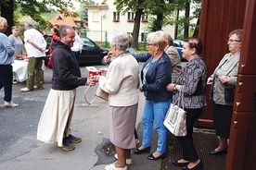
{"label": "dark tree trunk in top left corner, behind the blonde head", "polygon": [[14,25],[13,22],[13,0],[7,1],[6,4],[1,2],[1,16],[6,18],[8,23],[8,28],[6,30],[6,35],[11,34],[11,27]]}

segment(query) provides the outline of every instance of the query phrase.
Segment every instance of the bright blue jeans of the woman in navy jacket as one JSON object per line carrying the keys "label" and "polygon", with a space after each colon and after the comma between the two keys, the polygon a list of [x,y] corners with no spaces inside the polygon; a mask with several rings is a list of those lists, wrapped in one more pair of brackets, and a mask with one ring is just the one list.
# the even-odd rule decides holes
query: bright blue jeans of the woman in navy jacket
{"label": "bright blue jeans of the woman in navy jacket", "polygon": [[166,152],[167,145],[167,128],[163,125],[165,115],[167,114],[171,100],[166,102],[153,102],[146,100],[144,113],[142,117],[143,123],[143,139],[142,146],[148,147],[151,145],[153,123],[158,133],[157,152],[160,154]]}

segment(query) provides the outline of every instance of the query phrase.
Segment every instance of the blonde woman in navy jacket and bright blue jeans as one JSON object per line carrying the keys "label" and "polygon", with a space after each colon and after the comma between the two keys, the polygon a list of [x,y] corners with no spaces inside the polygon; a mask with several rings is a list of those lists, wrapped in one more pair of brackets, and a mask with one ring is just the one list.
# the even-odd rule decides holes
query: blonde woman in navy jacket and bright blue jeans
{"label": "blonde woman in navy jacket and bright blue jeans", "polygon": [[166,90],[167,84],[171,83],[173,67],[171,60],[164,48],[167,45],[166,34],[163,31],[149,33],[147,36],[148,54],[141,71],[142,84],[140,91],[144,91],[146,103],[142,117],[143,139],[142,145],[134,153],[150,152],[153,122],[159,136],[157,151],[147,156],[149,160],[158,160],[166,156],[167,128],[163,121],[171,103],[172,92]]}

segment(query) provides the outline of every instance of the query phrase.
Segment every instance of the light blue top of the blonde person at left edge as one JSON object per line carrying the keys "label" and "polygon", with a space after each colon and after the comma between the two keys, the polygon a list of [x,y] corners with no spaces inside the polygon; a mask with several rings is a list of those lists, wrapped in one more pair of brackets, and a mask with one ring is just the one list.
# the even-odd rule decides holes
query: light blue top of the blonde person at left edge
{"label": "light blue top of the blonde person at left edge", "polygon": [[0,65],[11,65],[14,53],[15,50],[6,34],[0,32]]}

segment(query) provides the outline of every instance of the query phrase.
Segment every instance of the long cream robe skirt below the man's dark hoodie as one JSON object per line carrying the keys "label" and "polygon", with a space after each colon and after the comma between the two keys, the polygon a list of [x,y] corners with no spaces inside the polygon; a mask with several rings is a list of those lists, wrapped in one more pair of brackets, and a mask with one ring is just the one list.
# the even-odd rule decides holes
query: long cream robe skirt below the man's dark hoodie
{"label": "long cream robe skirt below the man's dark hoodie", "polygon": [[45,143],[58,142],[62,147],[64,136],[70,135],[76,89],[56,91],[51,89],[45,102],[37,128],[37,140]]}

